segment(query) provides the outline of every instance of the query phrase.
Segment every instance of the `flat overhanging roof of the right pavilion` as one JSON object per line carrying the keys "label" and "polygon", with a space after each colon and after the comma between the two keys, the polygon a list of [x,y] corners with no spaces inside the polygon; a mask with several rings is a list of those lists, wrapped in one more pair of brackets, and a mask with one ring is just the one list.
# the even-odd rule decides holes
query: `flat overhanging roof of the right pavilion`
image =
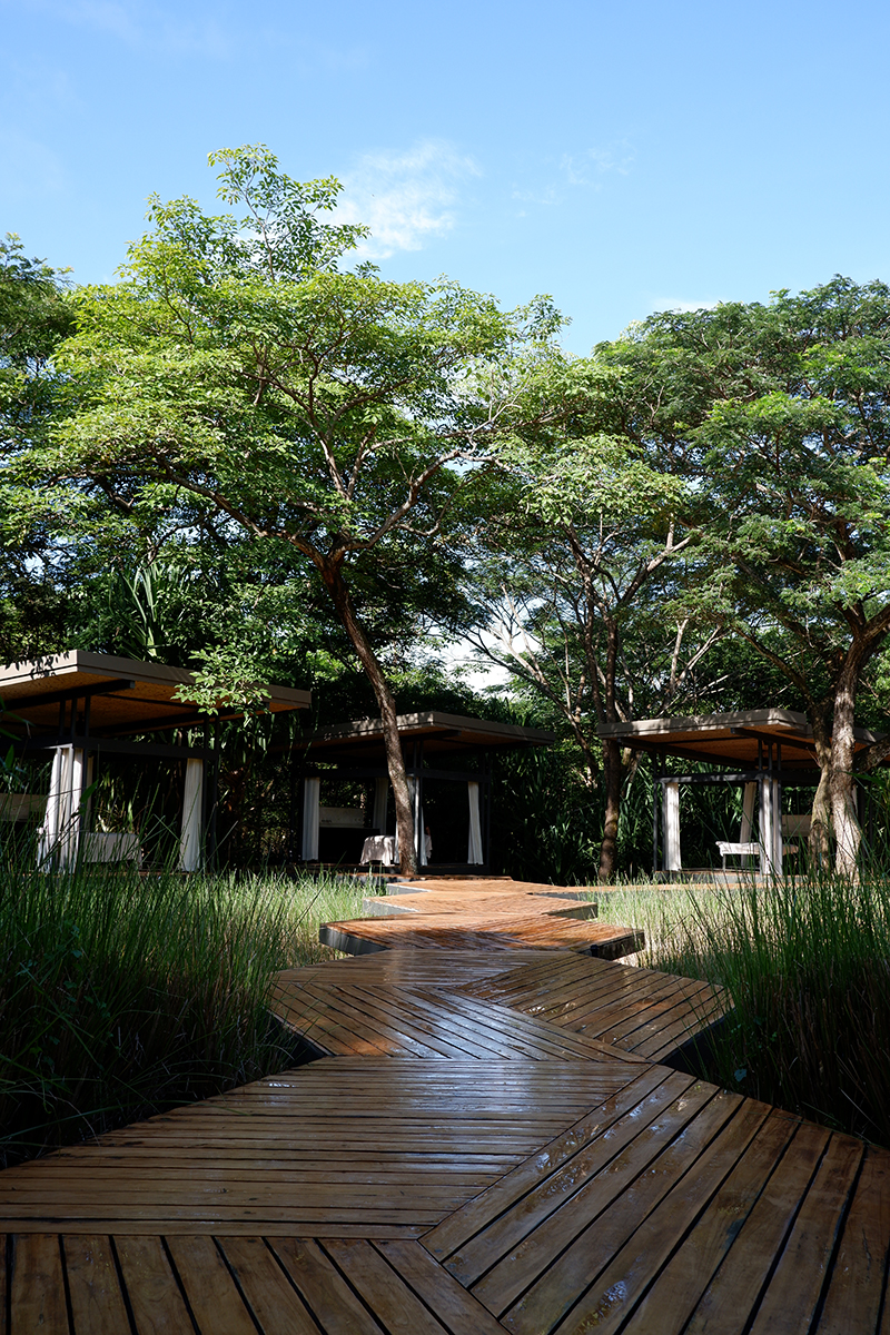
{"label": "flat overhanging roof of the right pavilion", "polygon": [[[614,737],[631,750],[683,756],[735,769],[757,769],[758,744],[782,746],[782,769],[814,769],[815,744],[806,714],[793,709],[749,709],[734,714],[686,718],[642,718],[635,724],[603,724],[599,736]],[[857,750],[878,741],[877,733],[855,729]]]}

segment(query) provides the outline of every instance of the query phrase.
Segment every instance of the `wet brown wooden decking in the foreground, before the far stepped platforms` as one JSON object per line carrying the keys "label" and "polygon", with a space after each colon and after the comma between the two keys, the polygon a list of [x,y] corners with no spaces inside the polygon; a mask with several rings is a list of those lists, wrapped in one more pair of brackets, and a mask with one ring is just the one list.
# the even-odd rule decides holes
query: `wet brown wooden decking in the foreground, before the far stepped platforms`
{"label": "wet brown wooden decking in the foreground, before the far stepped platforms", "polygon": [[890,1153],[663,1061],[701,984],[578,949],[280,976],[324,1056],[0,1173],[0,1332],[890,1330]]}

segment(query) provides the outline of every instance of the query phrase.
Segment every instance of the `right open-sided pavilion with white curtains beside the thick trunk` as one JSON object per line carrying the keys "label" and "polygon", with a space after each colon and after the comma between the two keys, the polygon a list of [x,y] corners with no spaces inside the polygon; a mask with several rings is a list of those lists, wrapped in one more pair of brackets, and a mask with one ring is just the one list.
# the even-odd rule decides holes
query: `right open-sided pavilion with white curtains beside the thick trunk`
{"label": "right open-sided pavilion with white curtains beside the thick trunk", "polygon": [[[723,865],[727,856],[739,856],[743,866],[757,858],[762,876],[782,876],[786,840],[803,838],[809,832],[809,817],[782,813],[783,785],[815,786],[819,778],[815,740],[806,714],[791,709],[750,709],[643,718],[632,724],[604,724],[599,736],[654,757],[652,872],[677,874],[682,870],[679,790],[685,784],[743,788],[738,842],[717,845]],[[857,750],[877,740],[877,734],[865,729],[855,732]],[[659,762],[667,757],[705,762],[714,769],[659,773]]]}

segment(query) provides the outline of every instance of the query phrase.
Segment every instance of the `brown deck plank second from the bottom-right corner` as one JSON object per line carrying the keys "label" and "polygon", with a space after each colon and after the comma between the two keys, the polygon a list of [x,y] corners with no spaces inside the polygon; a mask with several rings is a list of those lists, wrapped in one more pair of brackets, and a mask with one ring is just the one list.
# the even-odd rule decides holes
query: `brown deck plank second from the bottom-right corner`
{"label": "brown deck plank second from the bottom-right corner", "polygon": [[853,1136],[831,1137],[758,1307],[751,1335],[805,1335],[810,1330],[863,1148]]}

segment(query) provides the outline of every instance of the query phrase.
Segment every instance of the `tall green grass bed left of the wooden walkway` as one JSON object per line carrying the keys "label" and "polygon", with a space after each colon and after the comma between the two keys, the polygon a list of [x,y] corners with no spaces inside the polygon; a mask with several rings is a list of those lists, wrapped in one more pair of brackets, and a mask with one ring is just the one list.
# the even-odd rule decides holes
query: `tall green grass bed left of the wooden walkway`
{"label": "tall green grass bed left of the wooden walkway", "polygon": [[0,1164],[290,1064],[278,969],[330,955],[342,880],[0,869]]}

